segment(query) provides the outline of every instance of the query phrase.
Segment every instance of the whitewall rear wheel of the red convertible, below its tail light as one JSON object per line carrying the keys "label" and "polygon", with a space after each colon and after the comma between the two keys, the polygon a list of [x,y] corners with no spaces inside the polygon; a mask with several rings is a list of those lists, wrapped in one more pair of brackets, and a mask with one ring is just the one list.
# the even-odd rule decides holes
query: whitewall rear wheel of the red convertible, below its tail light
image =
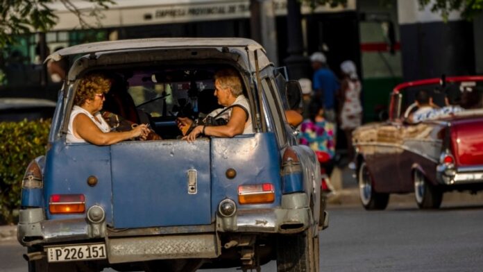
{"label": "whitewall rear wheel of the red convertible, below its tail light", "polygon": [[420,209],[438,209],[443,201],[443,192],[427,182],[421,171],[413,172],[414,198]]}

